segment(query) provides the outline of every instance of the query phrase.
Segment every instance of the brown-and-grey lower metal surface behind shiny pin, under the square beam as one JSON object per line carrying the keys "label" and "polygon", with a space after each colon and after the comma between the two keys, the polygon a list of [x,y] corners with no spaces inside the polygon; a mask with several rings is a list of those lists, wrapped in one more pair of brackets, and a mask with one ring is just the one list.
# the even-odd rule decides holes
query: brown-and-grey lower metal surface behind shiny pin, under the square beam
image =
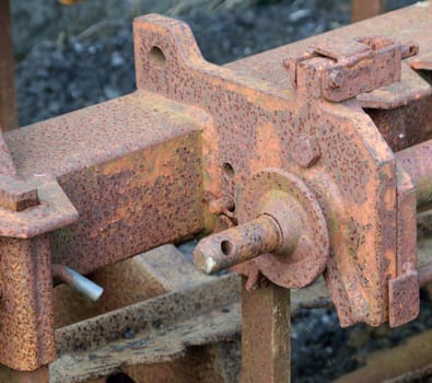
{"label": "brown-and-grey lower metal surface behind shiny pin, under the square beam", "polygon": [[[92,302],[66,285],[54,289],[56,328],[213,279],[198,271],[173,245],[105,266],[91,275],[104,288]],[[240,295],[240,292],[238,292]]]}

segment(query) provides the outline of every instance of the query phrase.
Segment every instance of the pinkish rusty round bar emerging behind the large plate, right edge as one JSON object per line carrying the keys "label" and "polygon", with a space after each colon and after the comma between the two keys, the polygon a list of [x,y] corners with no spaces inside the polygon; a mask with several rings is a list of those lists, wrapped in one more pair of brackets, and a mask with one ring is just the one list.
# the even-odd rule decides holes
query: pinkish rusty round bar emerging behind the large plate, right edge
{"label": "pinkish rusty round bar emerging behind the large plate, right edge", "polygon": [[396,159],[417,186],[417,207],[432,204],[432,140],[396,153]]}

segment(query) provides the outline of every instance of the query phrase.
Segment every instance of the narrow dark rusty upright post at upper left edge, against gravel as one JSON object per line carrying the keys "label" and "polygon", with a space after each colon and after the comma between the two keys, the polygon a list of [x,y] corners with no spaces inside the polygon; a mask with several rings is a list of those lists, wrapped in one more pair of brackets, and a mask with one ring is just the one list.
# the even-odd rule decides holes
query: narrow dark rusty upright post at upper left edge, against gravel
{"label": "narrow dark rusty upright post at upper left edge, against gravel", "polygon": [[17,126],[15,105],[15,60],[9,0],[0,1],[0,130]]}

